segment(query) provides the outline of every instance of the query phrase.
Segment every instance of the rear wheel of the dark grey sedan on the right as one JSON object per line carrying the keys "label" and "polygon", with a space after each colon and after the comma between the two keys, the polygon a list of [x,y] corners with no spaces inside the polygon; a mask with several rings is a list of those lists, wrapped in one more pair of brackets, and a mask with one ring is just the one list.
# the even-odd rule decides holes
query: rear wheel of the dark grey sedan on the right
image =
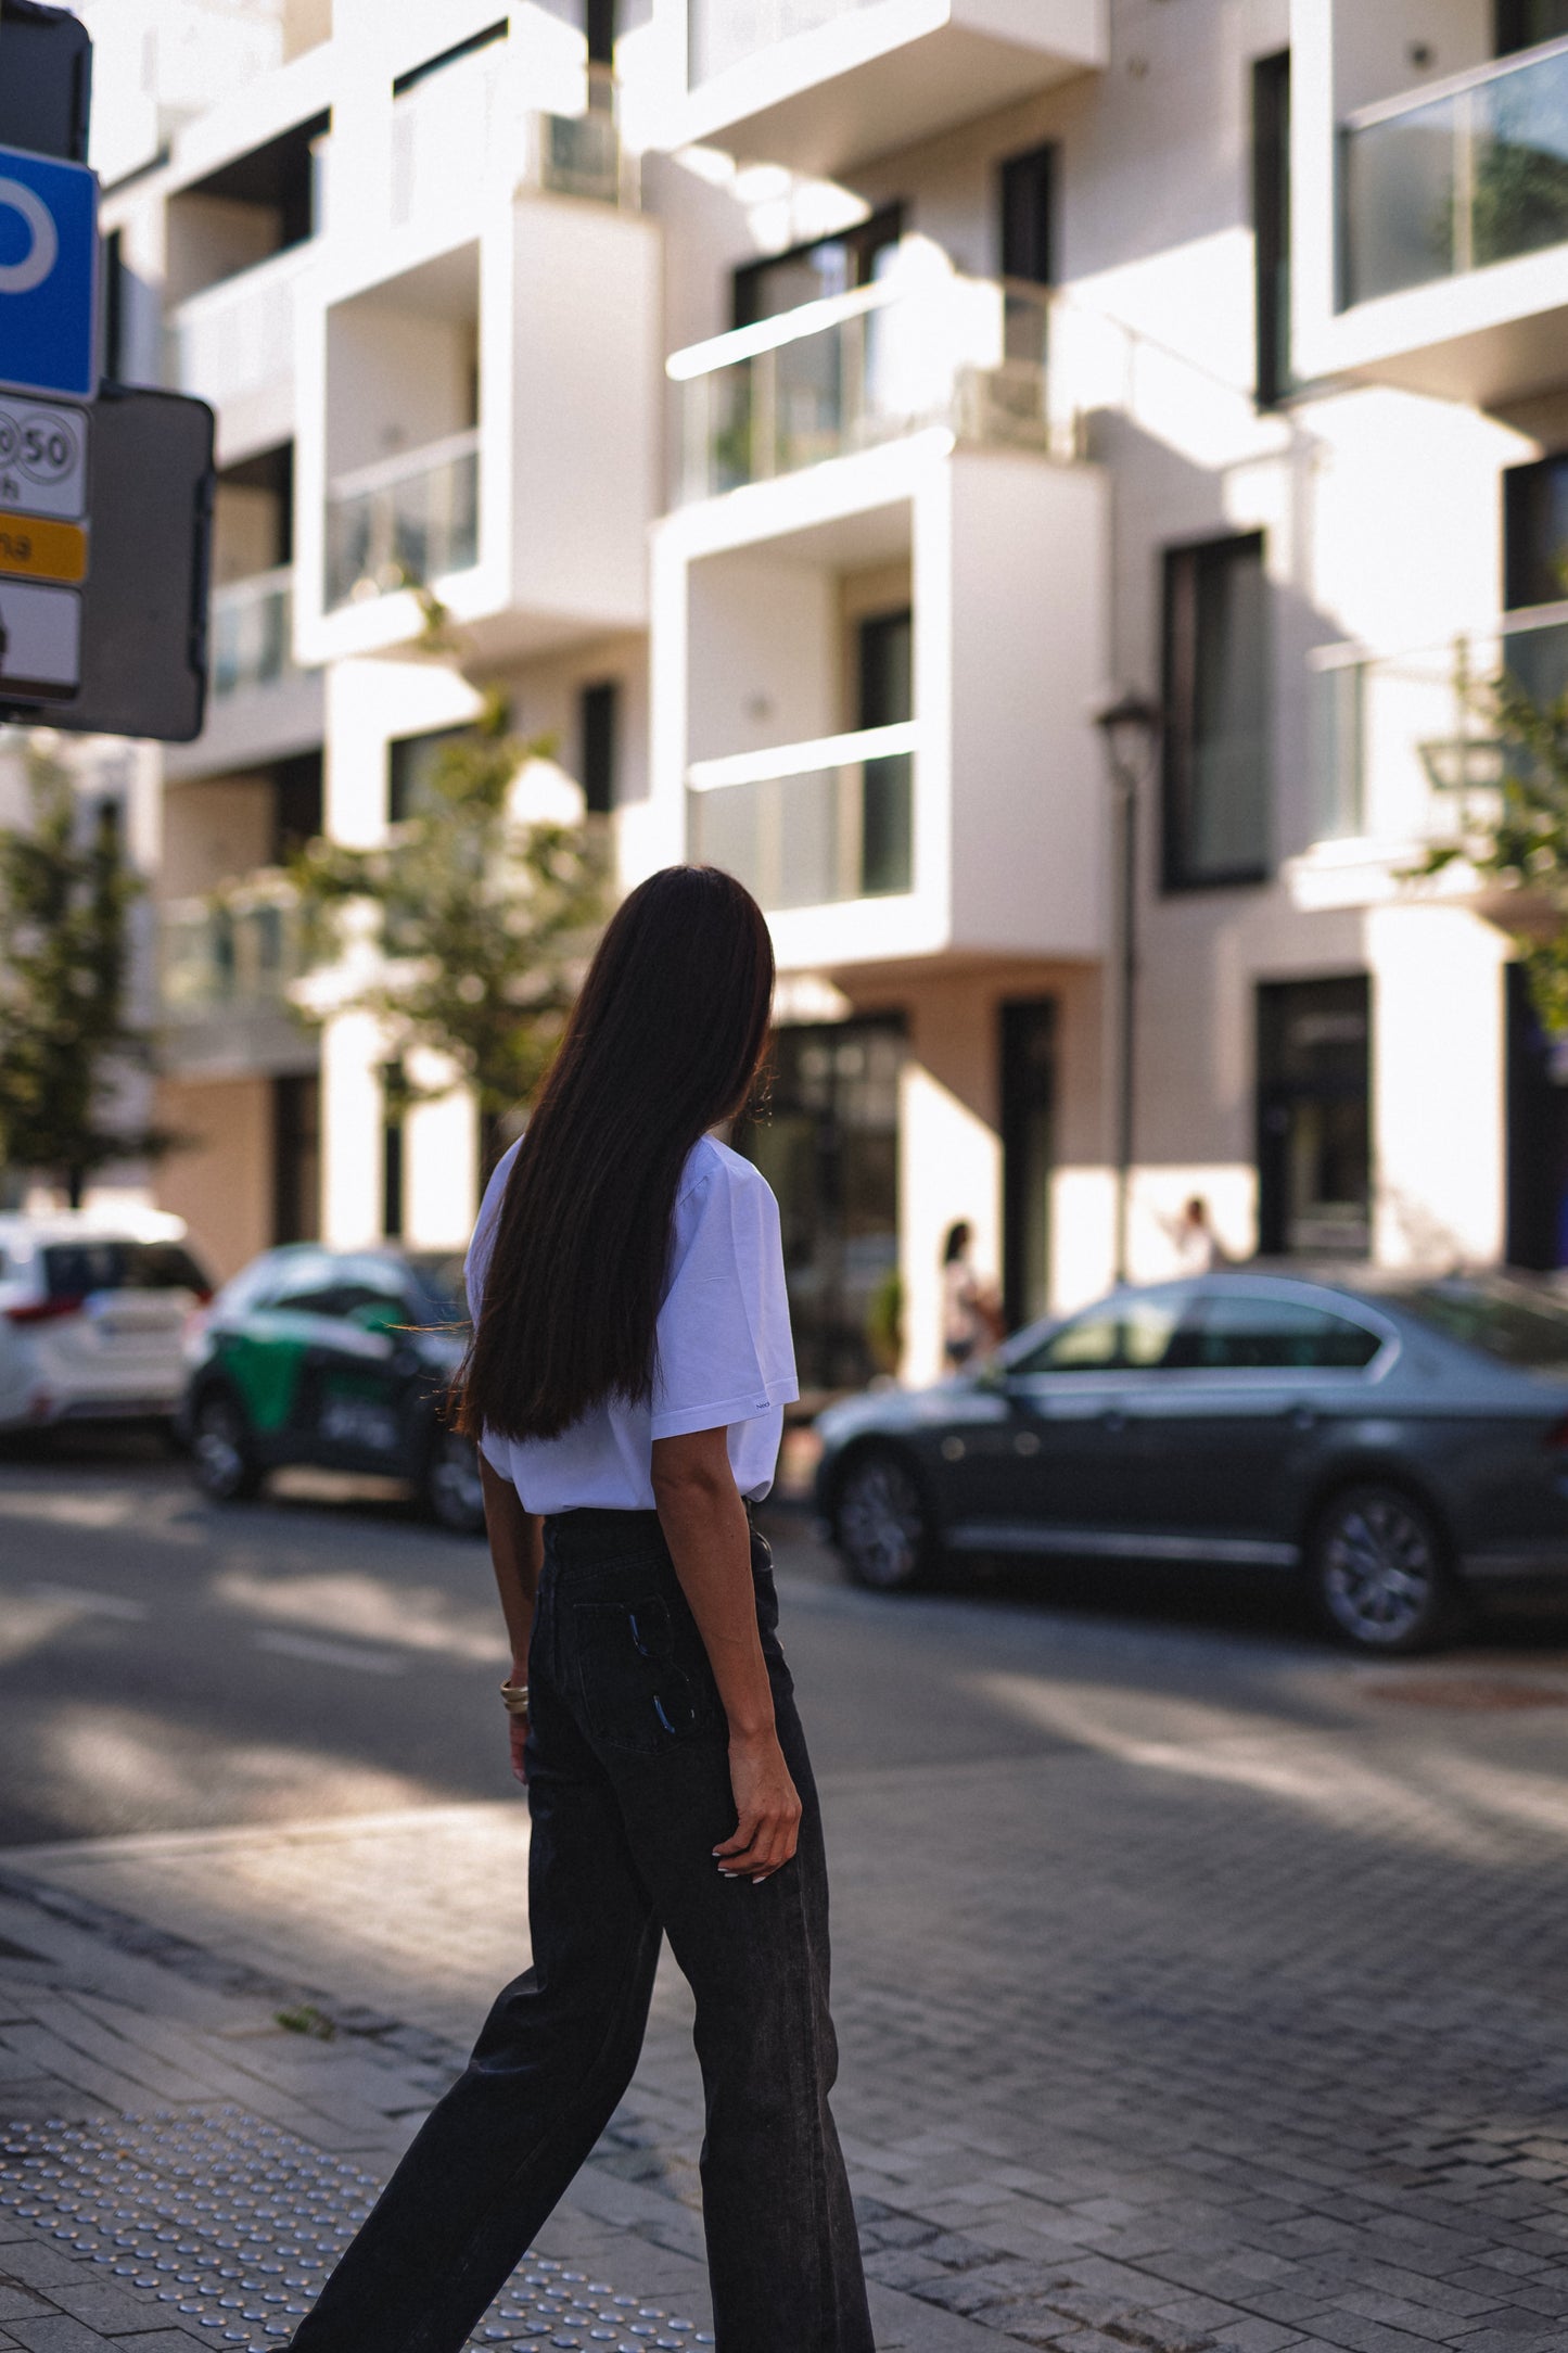
{"label": "rear wheel of the dark grey sedan on the right", "polygon": [[1453,1621],[1453,1588],[1432,1513],[1385,1480],[1342,1487],[1324,1506],[1307,1569],[1333,1633],[1396,1657],[1432,1649]]}

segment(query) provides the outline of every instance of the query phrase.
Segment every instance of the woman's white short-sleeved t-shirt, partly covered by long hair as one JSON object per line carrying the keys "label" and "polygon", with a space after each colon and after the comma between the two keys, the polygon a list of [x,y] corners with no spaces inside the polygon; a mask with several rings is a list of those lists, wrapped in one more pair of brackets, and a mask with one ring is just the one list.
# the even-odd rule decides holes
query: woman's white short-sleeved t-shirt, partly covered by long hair
{"label": "woman's white short-sleeved t-shirt, partly covered by long hair", "polygon": [[[468,1245],[468,1308],[475,1322],[515,1155],[512,1144],[484,1188]],[[778,1202],[750,1160],[701,1136],[675,1191],[654,1395],[639,1405],[609,1398],[559,1438],[484,1431],[482,1447],[491,1468],[512,1480],[524,1511],[581,1511],[590,1504],[654,1511],[654,1440],[726,1428],[736,1487],[759,1501],[773,1485],[783,1409],[795,1398]]]}

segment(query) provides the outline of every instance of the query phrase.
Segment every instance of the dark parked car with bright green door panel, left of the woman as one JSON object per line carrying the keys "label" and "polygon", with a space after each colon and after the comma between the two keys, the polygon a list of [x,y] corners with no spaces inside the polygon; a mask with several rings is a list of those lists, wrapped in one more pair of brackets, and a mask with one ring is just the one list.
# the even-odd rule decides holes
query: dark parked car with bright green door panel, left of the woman
{"label": "dark parked car with bright green door panel, left of the woman", "polygon": [[447,1426],[468,1346],[463,1261],[294,1242],[223,1285],[186,1344],[181,1435],[216,1501],[315,1464],[402,1478],[442,1527],[484,1527],[480,1464]]}

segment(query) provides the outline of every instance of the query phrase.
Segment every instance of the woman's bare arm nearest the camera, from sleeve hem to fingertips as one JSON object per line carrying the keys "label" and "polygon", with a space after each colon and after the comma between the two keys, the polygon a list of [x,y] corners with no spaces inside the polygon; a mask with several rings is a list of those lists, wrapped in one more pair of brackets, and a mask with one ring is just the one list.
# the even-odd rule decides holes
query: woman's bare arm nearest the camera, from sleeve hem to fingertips
{"label": "woman's bare arm nearest the camera, from sleeve hem to fingertips", "polygon": [[750,1527],[729,1468],[726,1433],[656,1438],[654,1501],[729,1718],[736,1828],[712,1852],[724,1878],[762,1882],[795,1854],[799,1795],[773,1725]]}

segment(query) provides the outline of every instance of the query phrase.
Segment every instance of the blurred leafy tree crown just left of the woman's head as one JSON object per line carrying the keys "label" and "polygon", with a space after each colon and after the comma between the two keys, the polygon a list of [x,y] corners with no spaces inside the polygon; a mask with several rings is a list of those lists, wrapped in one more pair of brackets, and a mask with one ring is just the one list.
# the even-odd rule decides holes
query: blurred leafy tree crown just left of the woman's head
{"label": "blurred leafy tree crown just left of the woman's head", "polygon": [[331,1005],[383,1026],[388,1111],[444,1092],[407,1075],[416,1049],[442,1054],[475,1096],[487,1167],[501,1120],[538,1089],[607,913],[602,838],[510,809],[520,767],[550,751],[510,734],[491,694],[386,842],[317,840],[289,868]]}

